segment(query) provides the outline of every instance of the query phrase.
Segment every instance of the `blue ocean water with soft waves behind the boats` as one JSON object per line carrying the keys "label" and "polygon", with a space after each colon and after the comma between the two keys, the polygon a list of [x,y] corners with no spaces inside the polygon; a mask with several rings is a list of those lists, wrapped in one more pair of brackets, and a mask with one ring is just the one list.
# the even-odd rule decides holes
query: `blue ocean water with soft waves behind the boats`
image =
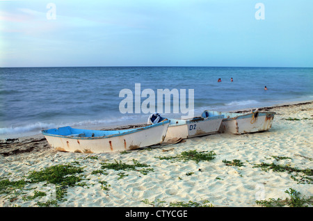
{"label": "blue ocean water with soft waves behind the boats", "polygon": [[[221,82],[218,82],[218,79]],[[234,81],[231,82],[230,78]],[[135,84],[140,84],[136,94]],[[268,90],[264,90],[264,86]],[[131,92],[120,97],[120,92]],[[141,96],[145,89],[154,92]],[[147,122],[150,113],[135,113],[159,90],[177,89],[179,104],[193,90],[195,116],[202,111],[233,111],[313,99],[313,68],[281,67],[21,67],[0,68],[0,138],[16,138],[59,126],[102,128]],[[138,88],[137,88],[138,90]],[[130,95],[132,95],[130,97]],[[120,103],[133,99],[133,113]],[[168,117],[174,113],[173,98]],[[129,101],[130,102],[130,101]],[[163,106],[165,100],[163,99]],[[130,103],[128,103],[130,104]],[[167,103],[168,104],[168,103]],[[131,109],[130,106],[125,106]],[[140,107],[140,106],[139,106]],[[150,111],[153,111],[153,106]],[[180,107],[180,106],[179,106]],[[163,108],[163,112],[165,109]],[[129,111],[131,112],[131,111]]]}

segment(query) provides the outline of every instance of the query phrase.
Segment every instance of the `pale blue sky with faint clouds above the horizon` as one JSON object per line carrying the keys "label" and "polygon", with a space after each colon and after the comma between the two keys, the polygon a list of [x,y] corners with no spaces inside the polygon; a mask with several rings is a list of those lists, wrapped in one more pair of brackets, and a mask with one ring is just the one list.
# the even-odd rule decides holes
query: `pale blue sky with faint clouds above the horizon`
{"label": "pale blue sky with faint clouds above the horizon", "polygon": [[0,67],[313,67],[312,0],[0,1]]}

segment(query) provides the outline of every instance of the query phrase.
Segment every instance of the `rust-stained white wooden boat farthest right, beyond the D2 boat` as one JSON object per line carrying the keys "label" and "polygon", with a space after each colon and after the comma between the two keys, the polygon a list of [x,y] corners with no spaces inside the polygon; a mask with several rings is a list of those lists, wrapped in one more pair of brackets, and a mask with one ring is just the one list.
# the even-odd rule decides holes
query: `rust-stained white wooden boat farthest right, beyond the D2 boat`
{"label": "rust-stained white wooden boat farthest right, beyond the D2 boat", "polygon": [[224,115],[220,132],[241,134],[268,131],[271,129],[275,112],[232,113],[204,111],[202,115]]}

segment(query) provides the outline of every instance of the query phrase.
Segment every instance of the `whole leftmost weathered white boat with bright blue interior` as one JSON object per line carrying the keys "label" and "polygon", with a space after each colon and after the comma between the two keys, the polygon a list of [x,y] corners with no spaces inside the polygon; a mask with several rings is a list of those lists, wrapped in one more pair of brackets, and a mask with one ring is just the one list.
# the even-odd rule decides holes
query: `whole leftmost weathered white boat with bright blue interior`
{"label": "whole leftmost weathered white boat with bright blue interior", "polygon": [[163,142],[169,120],[136,129],[98,131],[70,126],[42,131],[56,150],[80,153],[105,153],[138,149]]}

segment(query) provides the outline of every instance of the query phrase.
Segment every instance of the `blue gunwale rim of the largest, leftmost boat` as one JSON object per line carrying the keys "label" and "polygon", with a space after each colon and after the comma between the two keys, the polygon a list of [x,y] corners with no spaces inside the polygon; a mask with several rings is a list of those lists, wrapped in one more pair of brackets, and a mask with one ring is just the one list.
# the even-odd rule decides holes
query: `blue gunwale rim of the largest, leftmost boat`
{"label": "blue gunwale rim of the largest, leftmost boat", "polygon": [[[157,124],[143,126],[143,127],[136,128],[136,129],[129,129],[128,131],[125,131],[123,133],[114,133],[114,134],[110,134],[110,135],[106,135],[106,136],[97,136],[97,137],[78,137],[78,136],[70,136],[70,135],[58,135],[58,134],[45,132],[45,131],[48,131],[49,129],[42,130],[42,134],[44,136],[51,136],[51,137],[57,137],[57,138],[68,138],[68,139],[76,139],[76,140],[97,140],[97,139],[106,139],[106,138],[112,138],[112,137],[117,137],[117,136],[124,136],[124,135],[130,134],[130,133],[136,133],[139,131],[144,131],[145,129],[150,129],[152,127],[163,126],[164,124],[170,124],[170,120],[166,120],[164,122],[159,122]],[[58,128],[58,129],[60,129],[60,128]],[[86,129],[85,131],[97,131],[97,130]]]}

